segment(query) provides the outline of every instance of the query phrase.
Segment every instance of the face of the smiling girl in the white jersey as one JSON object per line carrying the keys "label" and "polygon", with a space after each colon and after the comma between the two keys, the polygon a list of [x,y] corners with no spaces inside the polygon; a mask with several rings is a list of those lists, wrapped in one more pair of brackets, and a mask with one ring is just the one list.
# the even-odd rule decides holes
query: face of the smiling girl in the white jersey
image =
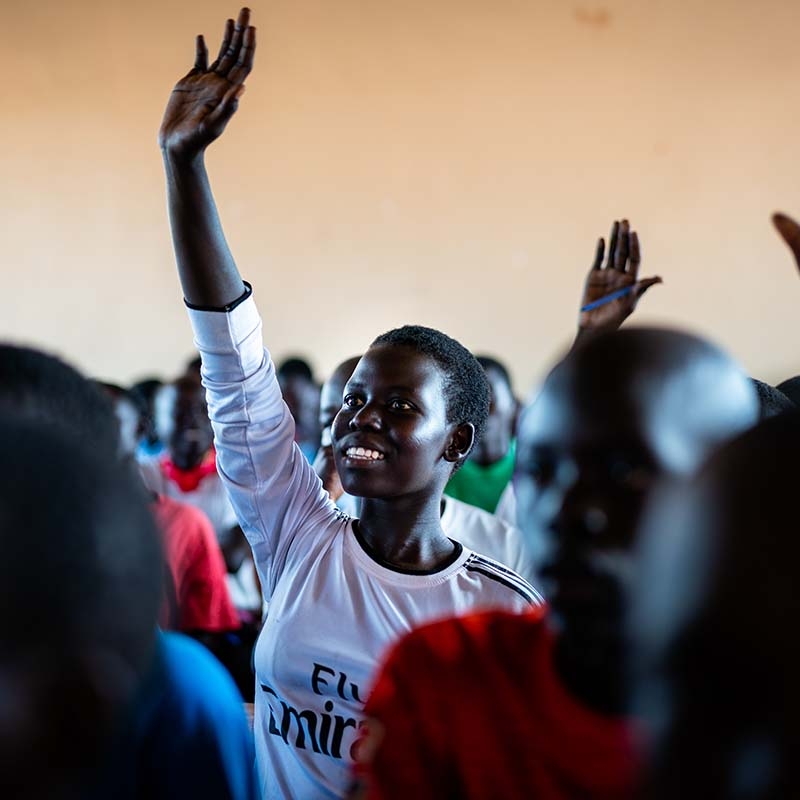
{"label": "face of the smiling girl in the white jersey", "polygon": [[444,487],[453,467],[444,379],[411,347],[375,345],[358,362],[333,421],[342,486],[356,497],[388,498]]}

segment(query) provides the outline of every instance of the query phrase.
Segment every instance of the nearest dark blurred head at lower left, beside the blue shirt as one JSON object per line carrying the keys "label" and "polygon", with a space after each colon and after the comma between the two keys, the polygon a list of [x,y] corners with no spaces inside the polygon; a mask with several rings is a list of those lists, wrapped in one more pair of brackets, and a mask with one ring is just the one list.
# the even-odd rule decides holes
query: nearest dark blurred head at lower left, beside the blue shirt
{"label": "nearest dark blurred head at lower left, beside the blue shirt", "polygon": [[0,441],[0,796],[72,797],[150,661],[158,536],[102,449],[8,416]]}

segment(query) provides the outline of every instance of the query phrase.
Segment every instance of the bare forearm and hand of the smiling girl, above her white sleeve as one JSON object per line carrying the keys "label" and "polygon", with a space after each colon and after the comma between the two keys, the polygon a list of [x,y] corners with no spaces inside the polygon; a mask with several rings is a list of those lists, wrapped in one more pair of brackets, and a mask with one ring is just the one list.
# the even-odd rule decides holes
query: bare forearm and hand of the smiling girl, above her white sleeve
{"label": "bare forearm and hand of the smiling girl, above her white sleeve", "polygon": [[172,241],[183,295],[192,305],[223,308],[244,284],[222,232],[205,168],[205,150],[225,130],[253,67],[256,29],[243,8],[225,23],[219,57],[209,67],[208,50],[197,37],[194,67],[175,84],[158,143],[167,178]]}

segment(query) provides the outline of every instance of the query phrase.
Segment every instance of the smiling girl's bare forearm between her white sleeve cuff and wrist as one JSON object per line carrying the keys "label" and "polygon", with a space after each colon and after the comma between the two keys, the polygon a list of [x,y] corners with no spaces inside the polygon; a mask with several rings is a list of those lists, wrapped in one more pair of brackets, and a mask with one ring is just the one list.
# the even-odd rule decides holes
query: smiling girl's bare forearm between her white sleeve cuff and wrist
{"label": "smiling girl's bare forearm between her white sleeve cuff and wrist", "polygon": [[217,206],[203,154],[191,160],[162,151],[167,205],[183,296],[195,306],[222,308],[244,292]]}

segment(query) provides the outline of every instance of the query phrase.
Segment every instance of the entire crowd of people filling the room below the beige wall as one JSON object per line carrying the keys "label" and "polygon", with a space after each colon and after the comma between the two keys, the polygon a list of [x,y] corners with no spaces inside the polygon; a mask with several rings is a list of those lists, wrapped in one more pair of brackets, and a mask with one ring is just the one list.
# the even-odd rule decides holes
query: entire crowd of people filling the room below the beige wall
{"label": "entire crowd of people filling the room below the beige wall", "polygon": [[800,376],[623,325],[627,220],[526,404],[419,325],[276,365],[204,164],[255,49],[198,37],[159,132],[199,355],[0,345],[0,796],[800,796]]}

